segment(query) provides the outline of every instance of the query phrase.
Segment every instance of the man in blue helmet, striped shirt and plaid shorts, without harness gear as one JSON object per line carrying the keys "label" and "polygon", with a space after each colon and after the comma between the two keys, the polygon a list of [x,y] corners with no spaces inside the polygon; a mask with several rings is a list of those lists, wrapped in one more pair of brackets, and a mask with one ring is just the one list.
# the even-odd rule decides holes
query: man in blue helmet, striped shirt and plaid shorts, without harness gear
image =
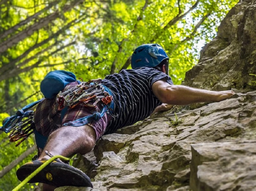
{"label": "man in blue helmet, striped shirt and plaid shorts, without harness gear", "polygon": [[[173,85],[169,76],[169,57],[158,44],[144,44],[137,47],[131,58],[131,70],[108,75],[101,84],[112,96],[111,110],[97,120],[80,125],[70,123],[102,110],[100,103],[88,108],[80,103],[69,108],[64,117],[58,110],[55,99],[43,99],[36,107],[34,120],[36,136],[47,137],[46,145],[37,144],[39,156],[17,170],[17,177],[23,181],[52,156],[86,154],[104,134],[114,133],[117,129],[147,118],[156,110],[166,110],[170,105],[188,105],[199,102],[217,102],[229,98],[233,91],[208,91]],[[65,90],[77,86],[77,82],[66,85]],[[63,125],[66,124],[66,125]],[[34,176],[30,183],[44,183],[44,190],[55,187],[76,186],[92,187],[90,178],[82,171],[65,161],[55,160]]]}

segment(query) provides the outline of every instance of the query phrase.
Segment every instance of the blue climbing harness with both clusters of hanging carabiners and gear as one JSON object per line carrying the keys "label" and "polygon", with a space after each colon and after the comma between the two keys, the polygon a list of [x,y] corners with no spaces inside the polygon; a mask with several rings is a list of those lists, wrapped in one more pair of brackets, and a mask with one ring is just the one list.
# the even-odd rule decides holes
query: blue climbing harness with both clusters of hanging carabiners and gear
{"label": "blue climbing harness with both clusters of hanging carabiners and gear", "polygon": [[[80,82],[73,88],[65,91],[60,91],[56,96],[56,102],[59,104],[58,110],[61,111],[65,107],[73,108],[82,103],[85,107],[95,108],[98,103],[102,103],[103,108],[101,112],[94,112],[92,115],[80,118],[76,121],[70,121],[64,126],[81,126],[89,123],[92,120],[98,120],[105,112],[113,109],[113,97],[111,92],[104,85],[101,84],[101,79],[90,80],[88,82]],[[21,110],[18,110],[16,115],[10,116],[3,121],[3,127],[0,130],[4,130],[5,133],[10,133],[9,139],[11,142],[20,140],[15,146],[20,145],[25,141],[32,133],[36,132],[34,122],[34,111],[28,110],[36,106],[42,101],[33,102]]]}

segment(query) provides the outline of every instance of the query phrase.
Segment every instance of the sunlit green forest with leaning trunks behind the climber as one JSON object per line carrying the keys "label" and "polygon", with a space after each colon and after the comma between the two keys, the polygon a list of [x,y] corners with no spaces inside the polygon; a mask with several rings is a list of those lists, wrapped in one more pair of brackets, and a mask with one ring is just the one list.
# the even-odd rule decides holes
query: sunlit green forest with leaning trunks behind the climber
{"label": "sunlit green forest with leaning trunks behind the climber", "polygon": [[[180,84],[201,46],[238,0],[0,0],[0,126],[4,118],[41,99],[52,70],[84,81],[130,69],[133,50],[158,43]],[[0,132],[0,190],[19,184],[15,172],[36,154],[33,136],[20,146]],[[23,190],[35,190],[27,184]]]}

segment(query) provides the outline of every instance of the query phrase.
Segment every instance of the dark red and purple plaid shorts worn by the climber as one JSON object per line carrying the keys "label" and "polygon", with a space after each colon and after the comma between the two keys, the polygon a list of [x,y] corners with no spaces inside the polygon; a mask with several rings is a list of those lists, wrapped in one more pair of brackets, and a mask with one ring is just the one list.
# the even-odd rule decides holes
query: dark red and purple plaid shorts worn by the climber
{"label": "dark red and purple plaid shorts worn by the climber", "polygon": [[[72,82],[66,85],[65,89],[72,88],[78,85],[77,82]],[[100,112],[103,106],[98,105],[96,108],[89,108],[83,106],[83,103],[78,104],[72,109],[68,109],[61,120],[61,111],[58,110],[58,103],[55,99],[44,99],[36,107],[35,124],[36,130],[43,136],[49,136],[54,130],[60,128],[64,123],[75,121],[76,119],[92,115],[93,112]],[[98,121],[91,121],[89,125],[95,130],[96,140],[98,140],[104,133],[111,119],[111,115],[105,113]],[[70,127],[72,128],[72,127]]]}

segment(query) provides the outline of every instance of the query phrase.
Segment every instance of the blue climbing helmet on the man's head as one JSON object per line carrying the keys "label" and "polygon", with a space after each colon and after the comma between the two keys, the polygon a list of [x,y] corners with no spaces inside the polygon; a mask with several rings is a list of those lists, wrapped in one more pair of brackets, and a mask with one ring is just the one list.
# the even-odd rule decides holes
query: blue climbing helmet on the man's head
{"label": "blue climbing helmet on the man's head", "polygon": [[163,60],[169,60],[166,52],[159,44],[143,44],[132,54],[132,68],[155,67]]}

